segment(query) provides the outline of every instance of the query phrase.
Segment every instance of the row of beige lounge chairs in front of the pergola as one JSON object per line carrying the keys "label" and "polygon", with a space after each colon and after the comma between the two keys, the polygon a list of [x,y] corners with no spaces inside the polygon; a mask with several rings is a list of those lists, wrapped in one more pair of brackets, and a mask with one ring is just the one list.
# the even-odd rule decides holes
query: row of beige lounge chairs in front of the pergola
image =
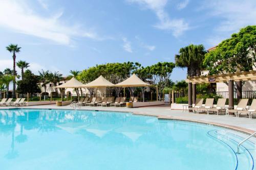
{"label": "row of beige lounge chairs in front of the pergola", "polygon": [[229,115],[232,113],[239,117],[241,114],[247,114],[249,118],[252,118],[253,115],[256,115],[256,99],[253,99],[251,106],[247,109],[248,99],[241,99],[238,102],[237,108],[233,109],[230,107],[226,107],[227,99],[218,99],[216,107],[214,107],[214,99],[206,99],[205,105],[203,107],[203,99],[197,99],[194,107],[188,108],[190,111],[195,111],[197,113],[201,112],[217,112],[217,115],[221,112]]}

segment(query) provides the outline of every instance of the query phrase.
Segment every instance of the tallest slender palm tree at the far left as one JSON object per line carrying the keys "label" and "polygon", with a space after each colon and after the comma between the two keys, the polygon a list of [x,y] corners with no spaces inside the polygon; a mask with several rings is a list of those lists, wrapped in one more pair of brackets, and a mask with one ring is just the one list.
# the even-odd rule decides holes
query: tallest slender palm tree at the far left
{"label": "tallest slender palm tree at the far left", "polygon": [[16,77],[16,53],[20,52],[20,48],[22,47],[18,47],[18,44],[10,44],[9,46],[6,46],[6,50],[8,50],[10,53],[12,53],[12,58],[13,58],[13,92],[12,92],[12,98],[15,98],[15,90],[16,90],[16,81],[15,81],[15,77]]}

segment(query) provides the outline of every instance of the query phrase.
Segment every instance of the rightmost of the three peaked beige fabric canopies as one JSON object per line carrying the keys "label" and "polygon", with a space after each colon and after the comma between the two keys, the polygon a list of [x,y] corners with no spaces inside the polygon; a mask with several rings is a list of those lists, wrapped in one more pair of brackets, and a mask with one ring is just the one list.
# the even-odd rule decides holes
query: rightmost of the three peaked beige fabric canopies
{"label": "rightmost of the three peaked beige fabric canopies", "polygon": [[117,87],[145,87],[150,86],[150,84],[147,84],[143,82],[138,76],[133,74],[130,78],[124,80],[121,83],[116,84]]}

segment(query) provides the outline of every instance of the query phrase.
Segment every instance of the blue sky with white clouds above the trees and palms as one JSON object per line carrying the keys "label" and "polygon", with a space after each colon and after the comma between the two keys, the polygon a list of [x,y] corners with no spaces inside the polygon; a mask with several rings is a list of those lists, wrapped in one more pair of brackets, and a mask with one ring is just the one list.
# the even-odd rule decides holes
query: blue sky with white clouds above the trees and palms
{"label": "blue sky with white clouds above the trees and palms", "polygon": [[[0,70],[12,68],[10,43],[22,47],[16,59],[29,62],[34,74],[175,62],[181,47],[207,50],[256,25],[255,18],[255,0],[0,0]],[[174,69],[173,81],[185,78],[186,69]]]}

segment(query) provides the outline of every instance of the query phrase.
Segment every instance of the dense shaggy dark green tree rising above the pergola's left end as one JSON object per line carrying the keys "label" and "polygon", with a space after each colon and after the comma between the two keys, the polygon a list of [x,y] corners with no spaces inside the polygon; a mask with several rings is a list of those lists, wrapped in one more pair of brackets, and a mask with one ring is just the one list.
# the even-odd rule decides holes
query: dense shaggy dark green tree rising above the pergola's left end
{"label": "dense shaggy dark green tree rising above the pergola's left end", "polygon": [[187,76],[200,76],[203,68],[206,51],[202,44],[190,44],[180,48],[179,54],[175,55],[175,64],[178,67],[187,68]]}

